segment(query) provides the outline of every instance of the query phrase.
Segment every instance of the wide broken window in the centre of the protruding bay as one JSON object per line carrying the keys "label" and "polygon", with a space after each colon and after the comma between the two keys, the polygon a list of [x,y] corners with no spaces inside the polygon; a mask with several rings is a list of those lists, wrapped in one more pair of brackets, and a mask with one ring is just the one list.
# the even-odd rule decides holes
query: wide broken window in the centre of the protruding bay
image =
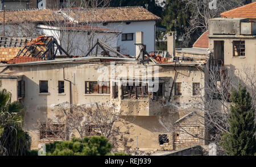
{"label": "wide broken window in the centre of the protruding bay", "polygon": [[[128,85],[128,83],[127,83]],[[122,97],[123,99],[137,99],[148,97],[148,85],[142,85],[139,83],[138,86],[122,86]]]}

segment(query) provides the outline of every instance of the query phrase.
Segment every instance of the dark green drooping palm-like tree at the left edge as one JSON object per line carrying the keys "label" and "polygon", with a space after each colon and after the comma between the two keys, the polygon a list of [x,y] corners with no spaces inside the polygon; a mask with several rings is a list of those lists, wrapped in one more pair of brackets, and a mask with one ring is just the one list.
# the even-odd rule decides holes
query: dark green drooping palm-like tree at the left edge
{"label": "dark green drooping palm-like tree at the left edge", "polygon": [[11,93],[0,90],[0,155],[26,155],[30,149],[30,136],[22,130],[22,113],[22,104],[11,102]]}

